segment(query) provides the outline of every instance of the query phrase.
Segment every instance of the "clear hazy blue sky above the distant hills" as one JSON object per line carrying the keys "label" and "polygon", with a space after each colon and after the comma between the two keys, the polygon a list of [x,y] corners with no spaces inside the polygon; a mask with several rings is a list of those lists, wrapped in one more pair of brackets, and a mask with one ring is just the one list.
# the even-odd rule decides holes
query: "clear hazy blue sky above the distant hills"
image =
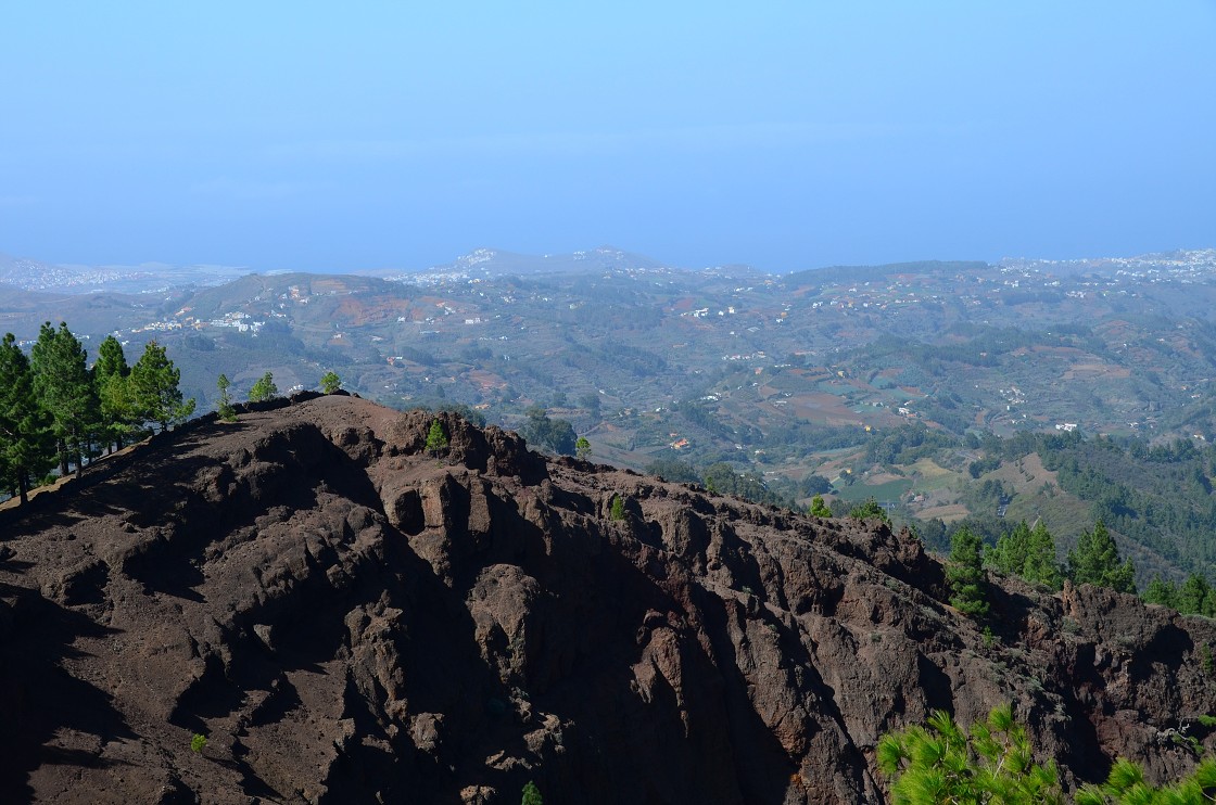
{"label": "clear hazy blue sky above the distant hills", "polygon": [[0,252],[1216,247],[1216,0],[0,4]]}

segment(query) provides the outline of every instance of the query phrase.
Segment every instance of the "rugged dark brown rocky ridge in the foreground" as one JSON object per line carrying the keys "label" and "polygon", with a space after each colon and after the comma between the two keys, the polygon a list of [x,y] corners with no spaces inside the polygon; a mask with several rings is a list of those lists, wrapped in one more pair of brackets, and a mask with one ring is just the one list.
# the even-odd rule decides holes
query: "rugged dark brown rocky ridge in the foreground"
{"label": "rugged dark brown rocky ridge in the foreground", "polygon": [[1209,621],[1008,581],[985,638],[907,535],[443,422],[317,398],[0,512],[0,799],[878,801],[883,732],[1006,700],[1070,784],[1212,742]]}

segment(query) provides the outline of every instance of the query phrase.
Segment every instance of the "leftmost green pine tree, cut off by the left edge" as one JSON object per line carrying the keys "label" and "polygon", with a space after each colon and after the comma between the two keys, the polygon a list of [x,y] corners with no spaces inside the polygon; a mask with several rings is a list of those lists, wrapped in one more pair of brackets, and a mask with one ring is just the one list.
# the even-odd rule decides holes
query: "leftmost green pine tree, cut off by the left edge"
{"label": "leftmost green pine tree, cut off by the left edge", "polygon": [[24,503],[33,478],[55,465],[51,417],[34,395],[29,359],[9,333],[0,342],[0,483]]}

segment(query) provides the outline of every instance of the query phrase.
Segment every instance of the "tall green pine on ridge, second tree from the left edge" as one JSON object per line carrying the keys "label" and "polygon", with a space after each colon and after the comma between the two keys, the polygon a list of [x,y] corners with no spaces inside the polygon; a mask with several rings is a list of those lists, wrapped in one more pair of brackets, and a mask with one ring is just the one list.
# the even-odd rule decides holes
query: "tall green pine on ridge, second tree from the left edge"
{"label": "tall green pine on ridge, second tree from the left edge", "polygon": [[56,330],[44,322],[30,350],[34,393],[54,422],[60,452],[60,474],[75,462],[80,474],[91,433],[101,421],[101,404],[89,377],[84,347],[66,322]]}

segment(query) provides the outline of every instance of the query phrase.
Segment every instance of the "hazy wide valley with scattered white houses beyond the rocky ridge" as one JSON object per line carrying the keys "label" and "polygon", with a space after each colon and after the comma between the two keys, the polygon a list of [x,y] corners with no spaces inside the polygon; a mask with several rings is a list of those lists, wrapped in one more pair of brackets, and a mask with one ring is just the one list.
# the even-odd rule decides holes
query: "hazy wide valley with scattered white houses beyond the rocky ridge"
{"label": "hazy wide valley with scattered white houses beyond the rocky ridge", "polygon": [[[1102,490],[1062,488],[1037,446],[1002,446],[1018,434],[1102,437],[1124,451],[1181,439],[1198,456],[1190,472],[1214,475],[1210,249],[789,275],[683,270],[608,247],[482,249],[381,276],[77,289],[10,294],[0,328],[32,338],[63,317],[129,351],[154,338],[199,410],[214,407],[220,373],[243,399],[268,371],[285,392],[334,371],[396,409],[454,407],[510,428],[539,406],[598,461],[702,482],[733,473],[739,494],[788,506],[806,506],[823,479],[841,511],[873,497],[938,547],[958,523],[995,540],[1037,518],[1068,546],[1115,516]],[[1206,495],[1177,492],[1158,505],[1206,522]],[[1190,539],[1170,529],[1124,545],[1144,584],[1207,573],[1178,544]]]}

